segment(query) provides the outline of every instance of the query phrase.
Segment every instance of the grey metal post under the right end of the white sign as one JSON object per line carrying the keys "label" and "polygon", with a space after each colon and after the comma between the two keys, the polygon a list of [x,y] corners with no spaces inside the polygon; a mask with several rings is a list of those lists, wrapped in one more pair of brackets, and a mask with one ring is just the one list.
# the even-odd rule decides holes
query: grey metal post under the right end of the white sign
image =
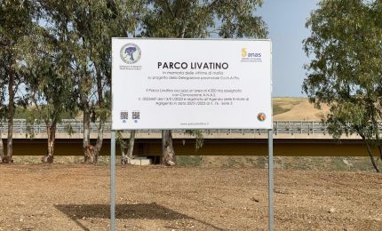
{"label": "grey metal post under the right end of the white sign", "polygon": [[268,203],[269,230],[274,230],[274,131],[268,130]]}

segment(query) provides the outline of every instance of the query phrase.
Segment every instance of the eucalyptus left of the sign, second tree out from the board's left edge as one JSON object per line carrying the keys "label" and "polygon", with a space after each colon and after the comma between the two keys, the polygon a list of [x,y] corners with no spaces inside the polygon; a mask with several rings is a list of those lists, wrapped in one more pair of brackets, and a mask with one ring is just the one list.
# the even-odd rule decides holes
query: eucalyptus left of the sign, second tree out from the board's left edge
{"label": "eucalyptus left of the sign, second tree out from the board's left edge", "polygon": [[[90,128],[92,119],[92,67],[89,61],[87,41],[78,28],[88,26],[86,19],[81,18],[81,13],[88,11],[84,3],[88,1],[41,1],[40,6],[44,9],[44,18],[48,22],[50,31],[57,34],[60,31],[65,40],[61,40],[60,49],[70,51],[65,56],[68,68],[68,76],[73,83],[73,100],[84,116],[84,156],[85,162],[91,161],[92,156],[86,155],[86,147],[90,145]],[[46,26],[47,26],[46,25]],[[45,28],[47,28],[45,26]],[[89,158],[88,158],[89,157]]]}

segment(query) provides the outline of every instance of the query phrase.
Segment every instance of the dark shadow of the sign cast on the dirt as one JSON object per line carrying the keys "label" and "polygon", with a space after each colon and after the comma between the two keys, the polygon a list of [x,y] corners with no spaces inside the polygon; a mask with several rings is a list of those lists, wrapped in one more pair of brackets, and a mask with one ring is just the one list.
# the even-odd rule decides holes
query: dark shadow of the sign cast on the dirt
{"label": "dark shadow of the sign cast on the dirt", "polygon": [[[109,204],[58,204],[54,207],[72,219],[84,230],[90,230],[80,222],[82,218],[110,219]],[[117,204],[115,207],[116,219],[193,219],[208,227],[217,230],[222,228],[215,227],[203,220],[188,217],[178,211],[172,211],[157,203],[137,203],[137,204]]]}

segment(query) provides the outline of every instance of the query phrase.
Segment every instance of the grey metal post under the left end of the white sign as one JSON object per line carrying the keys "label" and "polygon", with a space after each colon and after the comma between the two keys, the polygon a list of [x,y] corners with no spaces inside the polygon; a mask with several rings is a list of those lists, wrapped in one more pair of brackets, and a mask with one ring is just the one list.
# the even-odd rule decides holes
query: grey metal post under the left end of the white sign
{"label": "grey metal post under the left end of the white sign", "polygon": [[110,230],[115,231],[115,131],[111,131],[110,154]]}

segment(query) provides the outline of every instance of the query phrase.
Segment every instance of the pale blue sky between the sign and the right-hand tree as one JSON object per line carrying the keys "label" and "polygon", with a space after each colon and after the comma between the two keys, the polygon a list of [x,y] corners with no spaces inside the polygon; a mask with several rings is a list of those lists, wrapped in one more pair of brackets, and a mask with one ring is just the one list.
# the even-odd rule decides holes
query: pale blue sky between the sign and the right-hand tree
{"label": "pale blue sky between the sign and the right-hand tree", "polygon": [[306,76],[308,58],[302,40],[310,35],[306,19],[319,0],[264,0],[256,12],[267,23],[273,48],[273,96],[306,97],[301,84]]}

